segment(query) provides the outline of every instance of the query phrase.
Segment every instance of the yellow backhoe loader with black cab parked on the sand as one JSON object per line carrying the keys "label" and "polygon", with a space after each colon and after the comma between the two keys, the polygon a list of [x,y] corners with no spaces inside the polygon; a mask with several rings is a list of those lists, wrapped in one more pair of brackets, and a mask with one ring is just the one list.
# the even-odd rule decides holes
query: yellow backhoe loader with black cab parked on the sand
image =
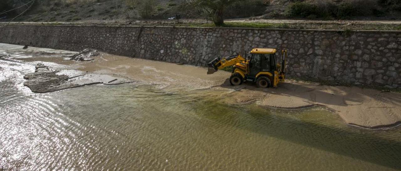
{"label": "yellow backhoe loader with black cab parked on the sand", "polygon": [[277,87],[286,79],[287,50],[282,50],[282,61],[276,62],[276,51],[271,48],[254,48],[247,57],[241,54],[216,58],[208,64],[207,74],[233,66],[230,77],[231,85],[241,85],[243,82],[255,82],[257,87]]}

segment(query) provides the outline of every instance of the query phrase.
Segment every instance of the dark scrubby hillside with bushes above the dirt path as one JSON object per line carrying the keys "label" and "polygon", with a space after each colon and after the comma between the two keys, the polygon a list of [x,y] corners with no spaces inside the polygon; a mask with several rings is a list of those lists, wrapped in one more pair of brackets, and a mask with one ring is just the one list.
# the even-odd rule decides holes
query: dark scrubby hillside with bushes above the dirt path
{"label": "dark scrubby hillside with bushes above the dirt path", "polygon": [[[207,18],[193,0],[32,0],[0,2],[0,20],[76,22]],[[25,6],[17,8],[24,3]],[[30,6],[30,8],[28,8]],[[12,10],[6,12],[7,10]],[[28,8],[28,9],[27,9]],[[239,0],[225,10],[225,18],[310,20],[399,20],[399,0]]]}

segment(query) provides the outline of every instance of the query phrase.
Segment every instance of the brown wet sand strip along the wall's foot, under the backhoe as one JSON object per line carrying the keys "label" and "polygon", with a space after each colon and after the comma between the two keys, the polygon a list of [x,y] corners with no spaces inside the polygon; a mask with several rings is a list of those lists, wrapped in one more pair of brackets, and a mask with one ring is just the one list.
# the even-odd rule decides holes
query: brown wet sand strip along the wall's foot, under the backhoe
{"label": "brown wet sand strip along the wall's foot, under the backhoe", "polygon": [[[0,49],[14,52],[49,51],[44,48],[0,44]],[[29,51],[28,51],[29,50]],[[36,53],[36,52],[35,52]],[[77,52],[69,52],[77,53]],[[1,54],[0,54],[1,55]],[[27,63],[38,61],[61,64],[83,72],[116,74],[142,82],[158,85],[160,89],[210,89],[211,94],[227,96],[233,104],[257,103],[266,107],[294,109],[322,105],[337,113],[349,125],[366,128],[394,127],[401,123],[401,94],[382,92],[359,87],[327,86],[318,83],[287,80],[277,88],[261,89],[254,84],[229,85],[229,72],[219,71],[207,75],[207,69],[188,65],[128,58],[101,54],[93,61],[63,60],[61,56],[31,56],[13,58]],[[216,93],[216,92],[225,93]]]}

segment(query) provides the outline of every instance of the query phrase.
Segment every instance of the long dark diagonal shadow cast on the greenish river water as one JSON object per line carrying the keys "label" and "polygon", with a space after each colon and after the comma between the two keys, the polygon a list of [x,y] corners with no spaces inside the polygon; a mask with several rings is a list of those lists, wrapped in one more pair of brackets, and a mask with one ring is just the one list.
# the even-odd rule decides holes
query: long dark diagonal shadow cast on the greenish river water
{"label": "long dark diagonal shadow cast on the greenish river water", "polygon": [[[210,102],[212,103],[212,102]],[[211,108],[221,109],[225,104],[217,103]],[[251,105],[254,107],[254,105]],[[380,136],[383,131],[400,133],[400,128],[389,130],[369,130],[351,127],[333,127],[324,123],[302,121],[281,112],[260,110],[255,112],[250,107],[229,105],[225,114],[203,113],[203,117],[223,125],[245,129],[284,141],[305,145],[338,155],[344,155],[375,163],[393,169],[401,169],[401,139]],[[244,109],[245,108],[245,109]],[[288,110],[288,109],[282,109]],[[242,115],[233,113],[244,112]],[[279,149],[277,149],[279,150]]]}

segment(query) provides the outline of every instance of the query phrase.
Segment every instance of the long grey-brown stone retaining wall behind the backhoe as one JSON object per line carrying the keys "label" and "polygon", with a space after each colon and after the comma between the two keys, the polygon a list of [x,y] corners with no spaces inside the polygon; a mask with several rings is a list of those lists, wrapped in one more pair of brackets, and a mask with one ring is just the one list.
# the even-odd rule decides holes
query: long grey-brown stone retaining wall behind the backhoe
{"label": "long grey-brown stone retaining wall behind the backhoe", "polygon": [[255,47],[287,48],[292,77],[401,87],[401,32],[246,28],[12,26],[0,42],[205,66]]}

